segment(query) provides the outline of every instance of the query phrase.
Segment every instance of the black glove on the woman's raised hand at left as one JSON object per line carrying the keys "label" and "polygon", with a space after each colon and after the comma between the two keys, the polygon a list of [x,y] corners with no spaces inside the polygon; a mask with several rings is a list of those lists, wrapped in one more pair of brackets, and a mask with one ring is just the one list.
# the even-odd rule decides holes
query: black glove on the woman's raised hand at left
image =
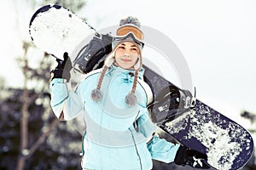
{"label": "black glove on the woman's raised hand at left", "polygon": [[73,68],[70,58],[68,57],[67,52],[63,54],[64,60],[56,59],[58,65],[55,67],[55,70],[50,71],[53,73],[51,80],[54,78],[64,78],[69,82],[70,80],[70,71]]}

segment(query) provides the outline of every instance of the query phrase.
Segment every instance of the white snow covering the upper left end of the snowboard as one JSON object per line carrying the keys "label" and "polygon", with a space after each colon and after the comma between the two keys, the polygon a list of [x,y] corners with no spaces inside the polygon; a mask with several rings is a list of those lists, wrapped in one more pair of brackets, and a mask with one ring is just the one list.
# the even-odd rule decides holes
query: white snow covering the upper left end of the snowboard
{"label": "white snow covering the upper left end of the snowboard", "polygon": [[44,14],[39,13],[30,31],[38,48],[59,59],[62,59],[64,52],[72,54],[79,42],[94,32],[77,15],[65,8],[49,8]]}

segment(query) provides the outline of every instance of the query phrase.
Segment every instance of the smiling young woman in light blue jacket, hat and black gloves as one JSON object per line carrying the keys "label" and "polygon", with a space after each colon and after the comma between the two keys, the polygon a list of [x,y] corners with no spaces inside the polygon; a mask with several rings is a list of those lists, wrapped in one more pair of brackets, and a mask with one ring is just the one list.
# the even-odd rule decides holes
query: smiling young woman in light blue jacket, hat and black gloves
{"label": "smiling young woman in light blue jacket, hat and black gloves", "polygon": [[140,23],[128,17],[120,21],[103,68],[91,71],[74,92],[67,89],[72,68],[67,54],[53,71],[50,93],[55,115],[62,120],[84,115],[84,169],[148,170],[152,159],[186,164],[196,156],[179,144],[153,137],[156,126],[147,110],[152,94],[143,82],[142,49]]}

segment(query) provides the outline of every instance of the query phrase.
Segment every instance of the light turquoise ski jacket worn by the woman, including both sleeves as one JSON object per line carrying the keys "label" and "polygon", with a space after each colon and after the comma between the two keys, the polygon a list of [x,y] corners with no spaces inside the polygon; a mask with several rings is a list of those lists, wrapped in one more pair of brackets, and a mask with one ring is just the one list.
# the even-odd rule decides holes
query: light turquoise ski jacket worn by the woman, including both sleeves
{"label": "light turquoise ski jacket worn by the woman, including both sleeves", "polygon": [[148,116],[147,105],[152,92],[139,72],[137,105],[125,104],[131,92],[134,71],[112,65],[102,81],[102,99],[93,101],[90,94],[96,88],[102,70],[91,71],[74,91],[61,78],[50,82],[50,105],[55,116],[61,112],[65,120],[83,114],[86,132],[83,137],[82,167],[87,169],[145,169],[153,167],[152,159],[171,162],[179,144],[152,135],[156,125]]}

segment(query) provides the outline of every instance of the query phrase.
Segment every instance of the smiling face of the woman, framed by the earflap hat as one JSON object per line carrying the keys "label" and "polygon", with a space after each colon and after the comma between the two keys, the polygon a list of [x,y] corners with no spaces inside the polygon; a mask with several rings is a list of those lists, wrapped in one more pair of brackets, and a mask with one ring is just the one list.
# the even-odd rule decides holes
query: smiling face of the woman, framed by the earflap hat
{"label": "smiling face of the woman, framed by the earflap hat", "polygon": [[115,62],[123,69],[133,69],[139,57],[139,48],[135,42],[121,42],[115,51]]}

